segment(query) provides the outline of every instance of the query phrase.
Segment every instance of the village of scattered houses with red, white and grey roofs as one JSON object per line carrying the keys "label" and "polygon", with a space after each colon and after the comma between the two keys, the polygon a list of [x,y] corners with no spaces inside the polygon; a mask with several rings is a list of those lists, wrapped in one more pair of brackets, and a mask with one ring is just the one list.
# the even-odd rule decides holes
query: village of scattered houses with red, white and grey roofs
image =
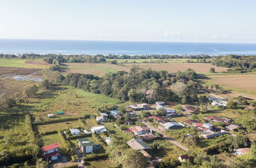
{"label": "village of scattered houses with red, white and grey roofs", "polygon": [[[217,99],[214,97],[208,98],[212,106],[227,106],[227,101]],[[103,148],[108,148],[112,141],[112,133],[106,128],[106,125],[115,127],[120,130],[122,134],[129,136],[130,141],[126,141],[126,144],[139,152],[141,152],[146,158],[147,167],[158,167],[162,158],[155,154],[150,144],[157,139],[166,139],[169,143],[173,143],[183,151],[188,151],[188,148],[172,139],[165,134],[167,130],[180,130],[194,128],[200,133],[201,138],[213,138],[216,136],[222,136],[224,134],[230,134],[236,136],[232,132],[243,129],[241,125],[234,124],[232,119],[220,116],[206,116],[203,121],[196,119],[189,119],[185,121],[175,122],[176,117],[191,117],[192,115],[198,115],[201,113],[195,106],[188,104],[181,105],[182,109],[177,110],[169,107],[168,103],[158,101],[155,104],[132,104],[126,106],[125,111],[119,111],[118,109],[111,109],[105,111],[105,113],[99,113],[93,120],[97,122],[97,125],[89,127],[86,120],[82,121],[83,127],[73,127],[70,129],[61,130],[59,132],[62,137],[61,140],[68,142],[69,139],[75,140],[75,147],[72,146],[71,150],[74,150],[74,154],[77,155],[77,162],[80,167],[86,167],[86,161],[90,160],[90,154],[95,153],[93,159],[97,160],[97,155],[106,156],[106,154],[97,154],[97,151]],[[254,107],[248,106],[248,109]],[[56,115],[64,114],[64,111],[59,111]],[[141,113],[145,114],[141,117]],[[124,115],[126,117],[124,117]],[[54,117],[54,114],[48,114],[48,118]],[[125,120],[129,118],[129,120]],[[88,119],[87,119],[88,120]],[[40,121],[35,121],[40,122]],[[221,123],[221,127],[215,126],[215,123]],[[66,122],[66,124],[69,124]],[[114,133],[115,134],[115,133]],[[194,135],[186,134],[184,138],[188,138]],[[98,144],[95,144],[90,139],[97,139]],[[89,139],[90,138],[90,139]],[[200,139],[199,139],[200,141]],[[150,144],[148,144],[150,142]],[[61,152],[58,150],[60,142],[49,144],[42,147],[44,151],[44,159],[49,163],[54,164],[61,157]],[[70,146],[67,145],[67,146]],[[243,155],[248,153],[249,148],[234,149],[234,155]],[[100,157],[99,157],[100,159]],[[193,157],[187,154],[180,155],[177,158],[180,162],[189,161],[193,162]]]}

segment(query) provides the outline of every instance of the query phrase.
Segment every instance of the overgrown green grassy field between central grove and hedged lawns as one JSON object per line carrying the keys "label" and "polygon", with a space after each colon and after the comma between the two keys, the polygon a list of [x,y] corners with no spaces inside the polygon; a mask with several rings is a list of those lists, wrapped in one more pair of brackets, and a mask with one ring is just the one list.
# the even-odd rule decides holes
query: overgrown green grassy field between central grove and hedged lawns
{"label": "overgrown green grassy field between central grove and hedged lawns", "polygon": [[47,118],[47,114],[55,114],[57,111],[65,111],[65,115],[58,115],[57,118],[69,118],[82,113],[94,115],[99,107],[122,103],[118,99],[85,92],[82,89],[58,89],[40,91],[36,98],[29,99],[30,102],[26,104],[24,110],[32,113],[35,120],[51,120]]}

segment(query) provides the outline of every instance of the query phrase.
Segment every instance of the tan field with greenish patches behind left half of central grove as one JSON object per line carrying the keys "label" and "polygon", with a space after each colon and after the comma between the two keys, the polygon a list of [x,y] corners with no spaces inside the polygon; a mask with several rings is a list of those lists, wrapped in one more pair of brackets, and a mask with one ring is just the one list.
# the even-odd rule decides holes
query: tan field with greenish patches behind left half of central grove
{"label": "tan field with greenish patches behind left half of central grove", "polygon": [[82,73],[102,76],[109,72],[129,71],[129,69],[112,64],[93,64],[93,63],[65,63],[61,64],[65,70],[63,74]]}

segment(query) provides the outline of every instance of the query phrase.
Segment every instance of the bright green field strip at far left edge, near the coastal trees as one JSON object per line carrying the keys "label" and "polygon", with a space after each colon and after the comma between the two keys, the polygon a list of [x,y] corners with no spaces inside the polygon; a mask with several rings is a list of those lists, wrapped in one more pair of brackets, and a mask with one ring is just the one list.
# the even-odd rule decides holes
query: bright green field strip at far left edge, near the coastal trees
{"label": "bright green field strip at far left edge, near the coastal trees", "polygon": [[0,59],[0,67],[14,67],[14,68],[36,68],[44,69],[50,64],[45,61],[34,61],[26,59]]}

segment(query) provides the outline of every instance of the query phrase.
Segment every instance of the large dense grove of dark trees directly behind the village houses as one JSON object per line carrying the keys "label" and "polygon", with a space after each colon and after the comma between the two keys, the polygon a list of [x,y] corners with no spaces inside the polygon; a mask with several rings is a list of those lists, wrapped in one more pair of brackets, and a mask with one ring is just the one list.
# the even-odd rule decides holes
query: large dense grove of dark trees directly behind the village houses
{"label": "large dense grove of dark trees directly behind the village houses", "polygon": [[[134,102],[165,101],[198,101],[197,90],[200,85],[194,82],[196,72],[187,69],[185,72],[168,74],[167,71],[152,69],[139,71],[134,67],[130,72],[118,71],[103,77],[89,74],[68,74],[64,85],[70,85],[96,94]],[[175,90],[166,89],[174,86]]]}

